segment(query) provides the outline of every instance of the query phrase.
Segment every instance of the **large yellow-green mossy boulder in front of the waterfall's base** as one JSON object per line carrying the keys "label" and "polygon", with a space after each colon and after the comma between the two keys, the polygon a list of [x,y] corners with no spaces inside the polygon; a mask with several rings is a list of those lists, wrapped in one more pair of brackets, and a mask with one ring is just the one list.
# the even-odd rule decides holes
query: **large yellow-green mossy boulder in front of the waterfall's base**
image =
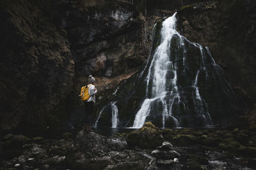
{"label": "large yellow-green mossy boulder in front of the waterfall's base", "polygon": [[127,134],[126,141],[129,146],[148,149],[160,146],[163,138],[159,129],[151,122],[147,122],[139,131]]}

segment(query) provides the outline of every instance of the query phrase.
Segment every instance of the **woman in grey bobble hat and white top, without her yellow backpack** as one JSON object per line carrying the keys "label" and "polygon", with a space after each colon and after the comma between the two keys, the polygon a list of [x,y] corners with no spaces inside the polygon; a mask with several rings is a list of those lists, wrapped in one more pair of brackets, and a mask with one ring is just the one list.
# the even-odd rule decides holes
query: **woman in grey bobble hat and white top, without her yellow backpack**
{"label": "woman in grey bobble hat and white top, without her yellow backpack", "polygon": [[84,124],[84,131],[86,132],[92,132],[92,113],[93,113],[93,108],[95,104],[95,94],[97,93],[97,89],[94,86],[95,83],[95,78],[93,78],[92,75],[89,76],[88,78],[88,93],[90,95],[90,98],[87,101],[84,101],[84,106],[85,106],[85,124]]}

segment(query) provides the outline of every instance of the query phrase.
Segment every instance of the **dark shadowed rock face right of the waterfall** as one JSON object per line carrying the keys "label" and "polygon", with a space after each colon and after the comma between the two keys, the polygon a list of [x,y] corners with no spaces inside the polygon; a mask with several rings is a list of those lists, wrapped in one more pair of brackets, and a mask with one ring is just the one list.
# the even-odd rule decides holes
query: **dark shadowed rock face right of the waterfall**
{"label": "dark shadowed rock face right of the waterfall", "polygon": [[208,46],[231,85],[255,101],[255,1],[211,1],[178,11],[180,32]]}

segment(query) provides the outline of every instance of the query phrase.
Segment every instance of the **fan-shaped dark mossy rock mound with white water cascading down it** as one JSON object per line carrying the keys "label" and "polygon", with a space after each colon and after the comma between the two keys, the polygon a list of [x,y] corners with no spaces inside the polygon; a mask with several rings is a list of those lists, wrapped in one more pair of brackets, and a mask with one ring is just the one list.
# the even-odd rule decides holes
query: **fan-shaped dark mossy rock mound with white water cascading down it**
{"label": "fan-shaped dark mossy rock mound with white water cascading down it", "polygon": [[112,127],[140,128],[147,121],[158,127],[212,127],[225,125],[225,118],[243,108],[209,48],[175,30],[176,15],[154,25],[145,67],[110,98],[105,114],[112,116]]}

